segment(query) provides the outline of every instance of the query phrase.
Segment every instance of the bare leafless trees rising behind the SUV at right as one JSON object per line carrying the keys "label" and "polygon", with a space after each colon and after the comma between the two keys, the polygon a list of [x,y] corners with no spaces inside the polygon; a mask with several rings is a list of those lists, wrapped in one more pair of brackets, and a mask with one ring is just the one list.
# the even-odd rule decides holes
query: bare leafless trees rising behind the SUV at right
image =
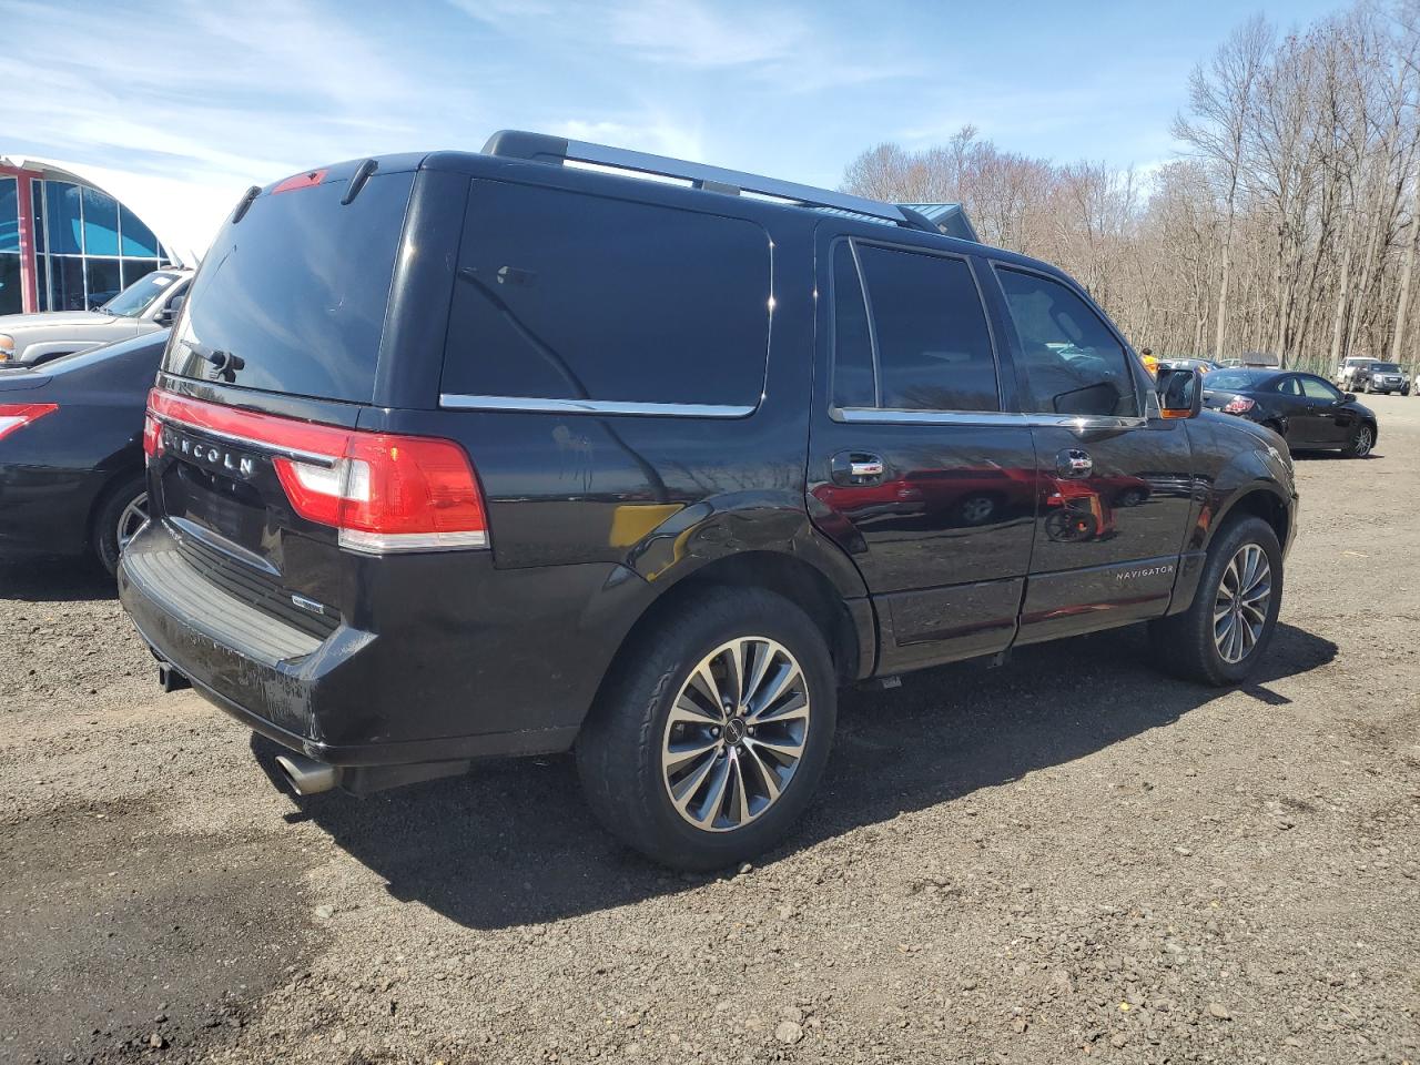
{"label": "bare leafless trees rising behind the SUV at right", "polygon": [[971,126],[883,143],[843,187],[960,200],[983,240],[1068,270],[1136,346],[1420,362],[1420,1],[1296,33],[1242,23],[1180,85],[1179,156],[1147,178],[998,148]]}

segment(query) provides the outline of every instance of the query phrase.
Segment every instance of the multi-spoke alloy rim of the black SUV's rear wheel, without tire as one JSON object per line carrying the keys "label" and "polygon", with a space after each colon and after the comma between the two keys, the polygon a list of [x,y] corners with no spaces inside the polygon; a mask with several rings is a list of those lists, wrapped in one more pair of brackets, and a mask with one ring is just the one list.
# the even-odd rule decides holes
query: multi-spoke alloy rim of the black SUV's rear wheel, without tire
{"label": "multi-spoke alloy rim of the black SUV's rear wheel, without tire", "polygon": [[778,802],[804,758],[808,682],[788,649],[741,636],[690,670],[660,746],[670,804],[707,832],[733,832]]}

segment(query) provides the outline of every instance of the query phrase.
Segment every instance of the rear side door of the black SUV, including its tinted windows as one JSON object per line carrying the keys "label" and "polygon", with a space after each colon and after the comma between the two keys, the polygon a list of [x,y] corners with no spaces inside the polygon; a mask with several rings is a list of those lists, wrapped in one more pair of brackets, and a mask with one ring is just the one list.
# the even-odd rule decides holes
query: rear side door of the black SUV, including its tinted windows
{"label": "rear side door of the black SUV, including its tinted windows", "polygon": [[977,266],[831,226],[816,263],[809,508],[873,596],[882,669],[1001,650],[1030,564],[1035,454]]}

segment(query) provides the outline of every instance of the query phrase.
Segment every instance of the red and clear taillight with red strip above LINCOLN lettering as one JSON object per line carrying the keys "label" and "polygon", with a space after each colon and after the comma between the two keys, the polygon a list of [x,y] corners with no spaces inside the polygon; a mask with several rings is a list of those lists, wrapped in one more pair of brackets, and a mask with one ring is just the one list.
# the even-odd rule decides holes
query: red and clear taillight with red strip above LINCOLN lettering
{"label": "red and clear taillight with red strip above LINCOLN lettering", "polygon": [[[338,530],[341,547],[386,554],[488,545],[473,463],[453,440],[297,422],[158,389],[148,409],[153,420],[274,453],[291,508]],[[156,432],[155,440],[160,447]]]}

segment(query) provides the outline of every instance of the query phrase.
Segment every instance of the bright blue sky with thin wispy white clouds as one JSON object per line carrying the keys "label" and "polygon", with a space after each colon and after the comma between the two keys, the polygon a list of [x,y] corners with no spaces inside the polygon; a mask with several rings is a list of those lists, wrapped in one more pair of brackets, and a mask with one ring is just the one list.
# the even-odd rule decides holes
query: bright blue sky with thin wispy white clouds
{"label": "bright blue sky with thin wispy white clouds", "polygon": [[513,126],[836,185],[873,143],[970,122],[1001,148],[1150,168],[1189,70],[1237,23],[1336,9],[0,0],[0,153],[240,189]]}

